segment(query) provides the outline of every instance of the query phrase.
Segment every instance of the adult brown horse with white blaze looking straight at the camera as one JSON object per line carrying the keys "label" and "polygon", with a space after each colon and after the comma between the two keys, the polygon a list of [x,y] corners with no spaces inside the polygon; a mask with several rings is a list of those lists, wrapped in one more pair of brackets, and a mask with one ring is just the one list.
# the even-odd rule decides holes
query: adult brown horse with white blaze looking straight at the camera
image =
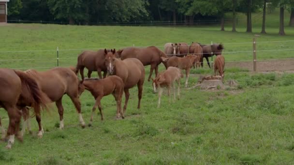
{"label": "adult brown horse with white blaze looking straight at the camera", "polygon": [[138,109],[140,109],[140,103],[142,98],[143,83],[145,79],[145,69],[140,60],[137,58],[127,58],[124,60],[117,59],[115,57],[116,50],[111,50],[105,53],[105,65],[107,67],[107,72],[110,75],[117,75],[120,77],[124,83],[125,92],[125,105],[123,107],[123,113],[127,110],[128,100],[129,100],[129,89],[133,86],[138,86]]}

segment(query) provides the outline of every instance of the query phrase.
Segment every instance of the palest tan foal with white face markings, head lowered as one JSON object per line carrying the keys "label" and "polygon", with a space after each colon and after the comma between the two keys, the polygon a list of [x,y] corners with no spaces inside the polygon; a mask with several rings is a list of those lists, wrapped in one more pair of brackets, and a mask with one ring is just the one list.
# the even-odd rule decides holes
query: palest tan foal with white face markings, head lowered
{"label": "palest tan foal with white face markings, head lowered", "polygon": [[176,67],[168,67],[164,72],[158,74],[154,79],[152,79],[153,83],[153,90],[156,93],[156,88],[158,88],[158,105],[157,108],[160,108],[160,100],[162,97],[163,88],[167,87],[168,89],[168,96],[169,96],[169,103],[171,103],[171,86],[174,87],[174,100],[176,100],[176,86],[175,81],[177,82],[177,96],[179,99],[180,96],[180,79],[183,78],[182,72],[180,69]]}

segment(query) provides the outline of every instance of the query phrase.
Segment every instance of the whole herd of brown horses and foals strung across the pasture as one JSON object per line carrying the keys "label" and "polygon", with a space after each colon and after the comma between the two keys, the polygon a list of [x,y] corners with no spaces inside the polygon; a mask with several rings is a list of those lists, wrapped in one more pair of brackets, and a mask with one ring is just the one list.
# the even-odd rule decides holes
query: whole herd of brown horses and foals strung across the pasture
{"label": "whole herd of brown horses and foals strung across the pasture", "polygon": [[[129,89],[137,85],[138,88],[138,106],[140,109],[141,98],[143,94],[143,84],[145,81],[144,66],[150,65],[148,81],[150,81],[153,70],[155,70],[155,79],[152,78],[154,92],[159,90],[158,107],[163,87],[170,89],[174,87],[174,100],[176,100],[175,82],[178,83],[178,98],[180,79],[183,77],[180,69],[186,70],[186,83],[188,86],[189,72],[191,68],[203,67],[203,58],[206,58],[210,68],[208,57],[217,55],[215,61],[215,74],[223,77],[224,58],[221,55],[222,44],[202,45],[192,42],[190,46],[187,43],[166,43],[165,50],[162,52],[155,46],[145,48],[128,47],[116,51],[116,49],[102,49],[98,51],[84,51],[78,55],[76,67],[62,68],[57,67],[46,71],[37,71],[29,69],[26,71],[15,69],[0,69],[0,107],[8,112],[9,125],[7,132],[1,124],[0,131],[2,139],[6,139],[8,144],[6,148],[10,149],[14,144],[15,137],[23,140],[25,130],[30,130],[29,107],[33,109],[36,121],[39,125],[38,137],[42,137],[44,130],[41,124],[41,110],[51,109],[52,102],[55,102],[59,112],[59,128],[64,128],[62,97],[69,96],[75,106],[78,119],[85,128],[85,122],[81,113],[81,103],[79,96],[88,90],[95,99],[92,109],[90,124],[93,121],[93,113],[97,106],[100,110],[101,120],[103,112],[101,99],[103,96],[112,94],[117,103],[116,118],[124,118],[126,112]],[[158,73],[159,65],[163,63],[165,69]],[[88,69],[88,78],[84,77],[84,69]],[[98,72],[98,78],[91,78],[93,71]],[[103,77],[101,72],[103,71]],[[81,75],[79,80],[77,74]],[[125,94],[125,103],[123,110],[121,108],[122,95]],[[170,99],[169,99],[170,101]],[[23,117],[23,128],[19,132],[20,120]],[[6,136],[5,136],[6,135]]]}

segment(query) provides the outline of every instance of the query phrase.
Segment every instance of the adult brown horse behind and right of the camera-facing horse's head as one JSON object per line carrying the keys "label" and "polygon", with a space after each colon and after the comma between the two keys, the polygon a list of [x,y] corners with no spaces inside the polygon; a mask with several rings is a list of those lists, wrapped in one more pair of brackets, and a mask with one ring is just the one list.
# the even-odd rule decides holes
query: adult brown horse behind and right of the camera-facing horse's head
{"label": "adult brown horse behind and right of the camera-facing horse's head", "polygon": [[[116,56],[120,57],[121,60],[124,60],[126,58],[137,58],[142,62],[144,66],[151,65],[148,81],[150,81],[150,78],[154,69],[155,69],[155,76],[158,74],[158,66],[160,63],[162,63],[161,57],[168,58],[167,55],[165,55],[165,53],[163,53],[161,50],[159,50],[155,46],[149,46],[146,48],[136,48],[136,47],[125,48],[123,50],[119,50],[116,53]],[[166,64],[164,62],[163,64],[165,68],[167,69]]]}

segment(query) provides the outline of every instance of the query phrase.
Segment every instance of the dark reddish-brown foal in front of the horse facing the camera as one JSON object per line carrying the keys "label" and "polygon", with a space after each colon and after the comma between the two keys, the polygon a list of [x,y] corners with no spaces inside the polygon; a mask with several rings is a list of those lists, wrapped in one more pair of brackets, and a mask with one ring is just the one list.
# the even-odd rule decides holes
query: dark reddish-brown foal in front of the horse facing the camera
{"label": "dark reddish-brown foal in front of the horse facing the camera", "polygon": [[95,112],[97,106],[101,114],[101,120],[104,119],[100,100],[103,96],[107,96],[110,94],[115,97],[117,102],[117,119],[119,119],[119,115],[124,118],[123,112],[121,110],[121,97],[123,94],[124,84],[120,77],[108,76],[105,79],[85,79],[82,84],[83,87],[79,90],[79,94],[81,95],[86,89],[91,92],[92,96],[94,96],[96,100],[92,109],[89,126],[92,125],[93,113]]}

